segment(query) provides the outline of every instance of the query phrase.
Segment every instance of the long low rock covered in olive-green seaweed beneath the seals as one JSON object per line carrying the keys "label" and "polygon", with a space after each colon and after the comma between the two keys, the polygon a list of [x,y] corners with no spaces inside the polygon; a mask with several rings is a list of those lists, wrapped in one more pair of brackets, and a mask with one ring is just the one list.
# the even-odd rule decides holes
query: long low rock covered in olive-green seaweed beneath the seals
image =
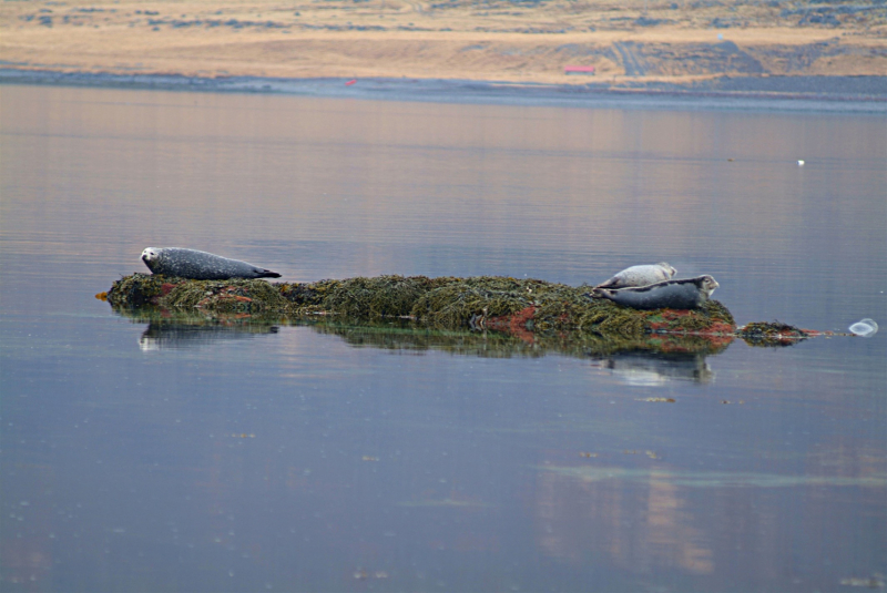
{"label": "long low rock covered in olive-green seaweed beneath the seals", "polygon": [[648,334],[724,335],[733,316],[716,300],[696,310],[636,310],[592,299],[588,286],[500,276],[378,276],[317,283],[188,280],[134,274],[108,293],[115,307],[154,305],[217,314],[404,317],[428,327],[518,331],[583,330],[634,338]]}

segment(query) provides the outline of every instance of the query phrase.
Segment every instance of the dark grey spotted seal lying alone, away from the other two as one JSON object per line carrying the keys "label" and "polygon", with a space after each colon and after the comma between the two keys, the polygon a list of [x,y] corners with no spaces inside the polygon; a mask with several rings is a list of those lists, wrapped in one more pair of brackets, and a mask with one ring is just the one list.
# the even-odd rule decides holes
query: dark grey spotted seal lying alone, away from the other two
{"label": "dark grey spotted seal lying alone, away from the other two", "polygon": [[281,277],[276,272],[239,259],[228,259],[221,255],[182,247],[147,247],[142,252],[142,262],[152,274],[192,280]]}

